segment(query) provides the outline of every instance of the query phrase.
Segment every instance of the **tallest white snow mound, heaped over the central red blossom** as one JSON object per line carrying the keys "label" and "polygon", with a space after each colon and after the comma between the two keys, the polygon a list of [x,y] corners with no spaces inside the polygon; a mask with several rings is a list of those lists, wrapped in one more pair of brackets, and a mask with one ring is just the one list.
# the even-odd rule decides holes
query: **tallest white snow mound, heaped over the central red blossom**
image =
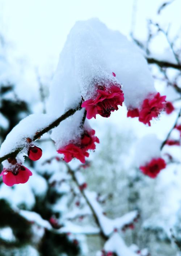
{"label": "tallest white snow mound, heaped over the central red blossom", "polygon": [[139,107],[148,93],[155,92],[148,64],[133,43],[97,18],[77,21],[60,54],[48,112],[58,115],[74,107],[81,96],[93,98],[96,83],[109,86],[109,81],[123,84],[125,103],[131,108]]}

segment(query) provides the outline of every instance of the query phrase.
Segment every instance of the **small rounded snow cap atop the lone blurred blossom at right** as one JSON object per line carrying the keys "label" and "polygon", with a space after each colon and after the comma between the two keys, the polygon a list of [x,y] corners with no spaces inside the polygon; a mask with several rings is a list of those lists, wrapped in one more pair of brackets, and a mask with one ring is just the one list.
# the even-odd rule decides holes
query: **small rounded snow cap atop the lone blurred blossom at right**
{"label": "small rounded snow cap atop the lone blurred blossom at right", "polygon": [[153,158],[161,156],[160,151],[161,140],[155,134],[148,134],[139,139],[135,145],[135,159],[134,162],[139,167],[149,163]]}

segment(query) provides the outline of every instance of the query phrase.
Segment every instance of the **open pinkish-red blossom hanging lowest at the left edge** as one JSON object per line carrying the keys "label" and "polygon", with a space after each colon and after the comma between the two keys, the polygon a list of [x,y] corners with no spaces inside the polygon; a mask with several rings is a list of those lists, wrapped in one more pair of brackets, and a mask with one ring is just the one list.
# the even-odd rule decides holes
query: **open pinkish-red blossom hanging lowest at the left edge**
{"label": "open pinkish-red blossom hanging lowest at the left edge", "polygon": [[16,165],[13,171],[4,168],[0,174],[3,176],[3,182],[8,186],[26,183],[31,175],[32,172],[23,165]]}

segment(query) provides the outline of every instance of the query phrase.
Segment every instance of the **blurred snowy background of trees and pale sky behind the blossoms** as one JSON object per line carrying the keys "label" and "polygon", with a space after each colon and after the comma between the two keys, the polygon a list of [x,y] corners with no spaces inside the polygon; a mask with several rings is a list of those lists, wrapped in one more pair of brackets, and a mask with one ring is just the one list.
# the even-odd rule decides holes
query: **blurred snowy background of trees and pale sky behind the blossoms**
{"label": "blurred snowy background of trees and pale sky behind the blossoms", "polygon": [[[91,120],[100,144],[87,168],[80,167],[107,217],[139,210],[122,238],[141,256],[181,255],[180,146],[164,147],[167,168],[154,180],[132,160],[139,138],[167,137],[181,106],[181,68],[158,63],[181,67],[180,10],[180,0],[0,0],[0,143],[22,118],[46,113],[59,54],[78,20],[98,17],[126,35],[150,62],[157,91],[172,101],[175,111],[151,127],[127,118],[124,106],[109,119]],[[171,136],[179,138],[179,131]],[[26,184],[8,187],[0,180],[0,256],[103,255],[105,240],[49,134],[38,144],[43,156],[26,160],[33,172]]]}

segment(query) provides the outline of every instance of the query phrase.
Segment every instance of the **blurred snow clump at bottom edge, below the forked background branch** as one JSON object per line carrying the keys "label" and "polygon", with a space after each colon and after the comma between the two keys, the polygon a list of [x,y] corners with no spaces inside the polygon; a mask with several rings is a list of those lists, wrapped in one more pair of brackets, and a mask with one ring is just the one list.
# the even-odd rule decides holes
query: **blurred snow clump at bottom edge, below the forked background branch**
{"label": "blurred snow clump at bottom edge, below the forked background branch", "polygon": [[138,256],[128,248],[121,236],[114,232],[104,245],[105,251],[116,253],[118,256]]}

